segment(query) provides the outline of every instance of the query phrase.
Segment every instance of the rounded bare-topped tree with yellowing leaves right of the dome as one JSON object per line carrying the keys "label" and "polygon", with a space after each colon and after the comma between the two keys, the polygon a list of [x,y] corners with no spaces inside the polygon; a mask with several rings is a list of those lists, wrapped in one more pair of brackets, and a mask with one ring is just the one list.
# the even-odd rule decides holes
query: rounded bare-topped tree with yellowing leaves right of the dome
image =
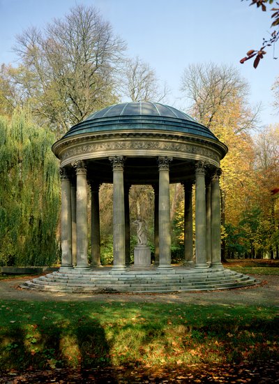
{"label": "rounded bare-topped tree with yellowing leaves right of the dome", "polygon": [[253,126],[259,107],[255,112],[248,108],[248,90],[248,84],[232,66],[190,64],[181,78],[181,91],[192,102],[190,112],[209,128],[232,98],[241,101],[243,119],[239,121],[239,130]]}

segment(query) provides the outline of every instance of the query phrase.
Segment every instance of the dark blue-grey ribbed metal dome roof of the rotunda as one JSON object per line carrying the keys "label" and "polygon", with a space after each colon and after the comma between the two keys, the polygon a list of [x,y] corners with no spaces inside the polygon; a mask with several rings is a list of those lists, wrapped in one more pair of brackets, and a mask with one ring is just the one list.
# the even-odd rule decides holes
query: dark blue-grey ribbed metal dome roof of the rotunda
{"label": "dark blue-grey ribbed metal dome roof of the rotunda", "polygon": [[175,131],[217,140],[209,128],[197,123],[186,113],[160,103],[139,101],[114,104],[94,112],[76,124],[63,138],[74,135],[116,130]]}

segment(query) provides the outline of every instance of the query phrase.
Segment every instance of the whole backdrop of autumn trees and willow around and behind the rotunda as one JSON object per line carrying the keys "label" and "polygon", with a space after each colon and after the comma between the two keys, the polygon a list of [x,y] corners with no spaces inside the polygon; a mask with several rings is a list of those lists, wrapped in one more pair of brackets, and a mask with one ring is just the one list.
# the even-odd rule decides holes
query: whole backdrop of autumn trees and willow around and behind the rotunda
{"label": "whole backdrop of autumn trees and willow around and behind the rotunda", "polygon": [[[91,112],[123,98],[172,104],[172,94],[149,64],[126,57],[126,43],[95,8],[77,6],[45,29],[23,31],[14,50],[19,64],[0,67],[0,265],[53,265],[60,257],[60,182],[52,144]],[[278,89],[275,79],[277,105]],[[186,66],[181,97],[190,105],[185,112],[229,148],[221,163],[223,258],[279,258],[279,124],[262,126],[259,108],[249,104],[249,84],[233,67]],[[172,185],[171,205],[172,258],[179,262],[180,184]],[[139,210],[152,250],[150,186],[130,190],[131,219]],[[100,187],[100,221],[101,259],[111,263],[108,184]]]}

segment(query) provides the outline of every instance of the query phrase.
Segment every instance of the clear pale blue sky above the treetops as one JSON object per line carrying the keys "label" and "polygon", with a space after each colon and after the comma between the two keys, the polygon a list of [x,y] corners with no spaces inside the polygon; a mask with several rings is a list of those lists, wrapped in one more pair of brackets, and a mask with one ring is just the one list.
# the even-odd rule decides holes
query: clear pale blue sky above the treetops
{"label": "clear pale blue sky above the treetops", "polygon": [[[239,60],[258,49],[272,31],[271,13],[249,6],[250,0],[0,0],[0,64],[16,65],[15,36],[31,26],[43,29],[78,4],[95,6],[114,34],[126,41],[128,57],[140,57],[167,82],[167,103],[186,111],[179,90],[189,64],[213,62],[235,66],[250,85],[249,103],[262,104],[261,125],[279,123],[273,107],[273,82],[279,59],[273,47],[255,70]],[[275,47],[279,57],[279,43]]]}

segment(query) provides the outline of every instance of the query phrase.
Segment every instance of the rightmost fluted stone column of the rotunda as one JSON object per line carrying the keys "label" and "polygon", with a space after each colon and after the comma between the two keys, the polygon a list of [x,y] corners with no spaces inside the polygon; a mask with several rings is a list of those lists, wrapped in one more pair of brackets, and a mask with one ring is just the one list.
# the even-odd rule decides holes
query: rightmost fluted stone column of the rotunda
{"label": "rightmost fluted stone column of the rotunda", "polygon": [[211,182],[211,267],[223,267],[221,263],[221,206],[220,168],[216,169]]}

